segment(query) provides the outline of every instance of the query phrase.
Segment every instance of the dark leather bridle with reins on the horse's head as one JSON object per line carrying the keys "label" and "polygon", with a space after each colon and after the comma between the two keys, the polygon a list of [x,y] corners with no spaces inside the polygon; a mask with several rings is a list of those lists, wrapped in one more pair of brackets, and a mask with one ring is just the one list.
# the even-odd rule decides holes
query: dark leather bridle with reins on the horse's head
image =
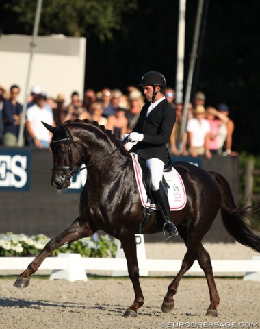
{"label": "dark leather bridle with reins on the horse's head", "polygon": [[[64,127],[64,125],[60,125],[60,128],[62,129],[62,131],[64,132],[66,137],[60,138],[60,139],[57,139],[57,140],[52,139],[51,140],[51,149],[53,150],[53,156],[54,156],[56,154],[58,145],[68,144],[69,165],[68,166],[57,166],[56,164],[53,164],[52,171],[65,171],[64,175],[61,175],[60,173],[56,173],[56,174],[62,176],[63,178],[66,178],[68,180],[70,180],[70,178],[73,177],[74,173],[78,173],[79,171],[81,171],[83,169],[91,167],[94,164],[97,164],[97,163],[109,158],[110,156],[112,156],[112,154],[114,154],[116,151],[118,151],[118,149],[123,147],[129,141],[129,136],[127,136],[127,138],[125,138],[125,140],[122,142],[122,144],[119,147],[117,147],[116,149],[114,149],[114,151],[107,154],[107,156],[102,156],[98,160],[96,160],[94,162],[89,162],[88,164],[85,164],[84,167],[81,167],[82,164],[86,162],[86,158],[88,157],[88,154],[84,154],[84,152],[77,146],[75,141],[73,141],[73,138],[72,138],[70,132],[68,132],[68,130],[66,130],[66,127]],[[77,151],[79,151],[79,153],[81,154],[81,156],[83,158],[82,162],[80,164],[77,164],[77,166],[75,166],[73,164],[73,152],[72,152],[72,149],[71,149],[72,144],[76,147]]]}

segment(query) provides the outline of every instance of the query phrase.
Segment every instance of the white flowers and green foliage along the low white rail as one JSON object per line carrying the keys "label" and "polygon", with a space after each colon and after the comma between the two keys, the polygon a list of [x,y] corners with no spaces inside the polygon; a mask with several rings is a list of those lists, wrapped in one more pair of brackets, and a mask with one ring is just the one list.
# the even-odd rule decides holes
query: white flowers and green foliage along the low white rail
{"label": "white flowers and green foliage along the low white rail", "polygon": [[[38,234],[27,236],[25,234],[0,234],[0,256],[36,256],[51,239]],[[80,239],[68,245],[56,249],[51,256],[63,253],[79,253],[85,257],[115,257],[117,243],[116,239],[109,235],[94,234],[91,237]]]}

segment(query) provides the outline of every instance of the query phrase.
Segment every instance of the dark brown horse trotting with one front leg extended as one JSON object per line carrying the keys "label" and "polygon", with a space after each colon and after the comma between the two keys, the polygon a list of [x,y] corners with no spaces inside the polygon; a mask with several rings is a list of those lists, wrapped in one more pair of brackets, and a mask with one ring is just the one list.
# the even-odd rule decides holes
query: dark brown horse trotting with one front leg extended
{"label": "dark brown horse trotting with one front leg extended", "polygon": [[[131,156],[123,147],[120,148],[120,141],[111,132],[95,122],[66,121],[64,125],[55,128],[44,125],[53,133],[51,184],[57,189],[67,188],[70,177],[83,163],[88,167],[88,178],[80,197],[79,217],[62,234],[47,243],[42,252],[18,276],[14,286],[27,287],[31,274],[37,271],[54,249],[91,236],[97,230],[103,230],[122,243],[135,293],[133,304],[124,315],[136,317],[138,308],[144,304],[135,246],[142,204]],[[210,304],[207,315],[216,317],[220,298],[213,278],[211,260],[201,240],[221,209],[226,230],[239,243],[260,252],[260,239],[242,221],[242,217],[251,215],[252,209],[235,205],[228,182],[218,173],[209,173],[187,162],[175,162],[174,167],[183,178],[187,204],[172,215],[187,246],[187,252],[179,273],[168,287],[161,310],[168,313],[174,308],[173,296],[177,293],[179,282],[194,260],[198,260],[209,287]],[[146,233],[161,232],[163,225],[160,212],[154,212],[146,225]]]}

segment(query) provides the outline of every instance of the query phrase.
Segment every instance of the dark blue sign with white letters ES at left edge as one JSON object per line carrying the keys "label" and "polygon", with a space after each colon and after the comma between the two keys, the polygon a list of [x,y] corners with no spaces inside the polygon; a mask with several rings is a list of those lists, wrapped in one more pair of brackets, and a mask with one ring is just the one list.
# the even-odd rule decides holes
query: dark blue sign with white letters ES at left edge
{"label": "dark blue sign with white letters ES at left edge", "polygon": [[29,191],[30,149],[0,149],[0,191]]}

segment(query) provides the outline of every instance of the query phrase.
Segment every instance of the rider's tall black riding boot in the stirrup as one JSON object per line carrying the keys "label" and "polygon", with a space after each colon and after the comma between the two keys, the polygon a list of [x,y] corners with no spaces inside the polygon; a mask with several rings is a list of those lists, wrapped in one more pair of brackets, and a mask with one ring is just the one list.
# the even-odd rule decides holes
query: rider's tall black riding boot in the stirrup
{"label": "rider's tall black riding boot in the stirrup", "polygon": [[164,217],[164,236],[166,240],[173,238],[178,235],[178,231],[174,223],[172,223],[172,217],[170,216],[170,205],[168,202],[168,196],[164,189],[164,186],[160,182],[159,190],[154,191],[155,197],[158,202],[158,206]]}

